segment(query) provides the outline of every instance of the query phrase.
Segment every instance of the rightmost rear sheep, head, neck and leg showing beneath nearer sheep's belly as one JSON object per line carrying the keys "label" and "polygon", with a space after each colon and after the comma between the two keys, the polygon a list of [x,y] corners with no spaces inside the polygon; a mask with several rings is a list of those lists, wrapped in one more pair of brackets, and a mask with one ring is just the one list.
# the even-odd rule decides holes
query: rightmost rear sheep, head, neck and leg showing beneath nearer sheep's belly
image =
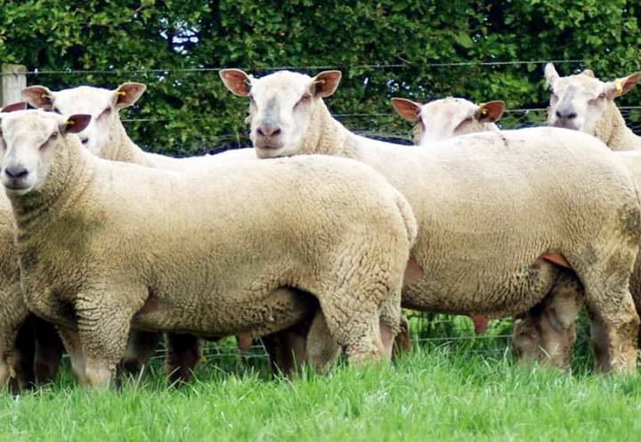
{"label": "rightmost rear sheep, head, neck and leg showing beneath nearer sheep's belly", "polygon": [[[629,92],[639,76],[641,72],[635,72],[606,83],[590,69],[561,77],[552,63],[545,67],[550,90],[548,124],[594,135],[608,148],[621,151],[618,155],[637,181],[641,177],[638,155],[628,155],[627,151],[641,149],[641,137],[626,126],[614,99]],[[635,264],[632,281],[636,282],[630,286],[632,297],[637,312],[641,312],[641,289],[637,284],[641,282],[641,262]],[[564,277],[557,287],[557,293],[547,302],[515,321],[513,349],[525,361],[539,359],[567,368],[576,340],[575,318],[584,302],[582,287],[571,276]]]}

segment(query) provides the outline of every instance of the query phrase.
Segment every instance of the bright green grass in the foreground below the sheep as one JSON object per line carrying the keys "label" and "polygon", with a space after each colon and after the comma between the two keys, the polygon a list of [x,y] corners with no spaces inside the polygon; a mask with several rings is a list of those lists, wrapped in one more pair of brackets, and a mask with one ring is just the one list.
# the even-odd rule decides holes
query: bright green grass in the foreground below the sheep
{"label": "bright green grass in the foreground below the sheep", "polygon": [[[483,344],[484,345],[484,344]],[[415,350],[391,366],[337,366],[272,381],[264,363],[213,360],[166,388],[158,366],[120,391],[54,385],[0,398],[11,441],[634,440],[641,378],[565,375],[463,347]]]}

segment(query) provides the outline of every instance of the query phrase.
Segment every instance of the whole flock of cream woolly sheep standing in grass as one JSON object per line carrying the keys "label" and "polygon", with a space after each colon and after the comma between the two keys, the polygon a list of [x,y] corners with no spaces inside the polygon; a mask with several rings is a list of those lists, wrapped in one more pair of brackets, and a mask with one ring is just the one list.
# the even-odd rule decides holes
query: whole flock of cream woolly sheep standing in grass
{"label": "whole flock of cream woolly sheep standing in grass", "polygon": [[410,147],[331,116],[338,71],[223,69],[253,148],[188,158],[127,136],[143,84],[26,88],[37,109],[0,113],[0,385],[50,381],[64,348],[104,387],[162,332],[170,382],[229,335],[262,336],[284,374],[387,360],[409,348],[401,308],[479,333],[515,317],[517,358],[567,368],[586,307],[596,369],[635,372],[641,138],[614,99],[641,73],[545,72],[556,127],[499,131],[502,101],[393,99]]}

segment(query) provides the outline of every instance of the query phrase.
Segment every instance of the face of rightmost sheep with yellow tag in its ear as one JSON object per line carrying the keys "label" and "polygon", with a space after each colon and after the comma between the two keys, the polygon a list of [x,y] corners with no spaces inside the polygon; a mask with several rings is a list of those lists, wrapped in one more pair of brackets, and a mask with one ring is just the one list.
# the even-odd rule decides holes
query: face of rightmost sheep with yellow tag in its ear
{"label": "face of rightmost sheep with yellow tag in its ear", "polygon": [[637,84],[641,72],[603,82],[591,70],[559,76],[554,65],[548,63],[545,76],[550,91],[548,124],[594,134],[604,110]]}

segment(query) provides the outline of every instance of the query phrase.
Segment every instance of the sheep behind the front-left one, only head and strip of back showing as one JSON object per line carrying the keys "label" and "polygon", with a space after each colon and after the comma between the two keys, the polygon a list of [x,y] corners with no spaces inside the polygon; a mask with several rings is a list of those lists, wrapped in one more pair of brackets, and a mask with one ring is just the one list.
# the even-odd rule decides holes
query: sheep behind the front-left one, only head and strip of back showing
{"label": "sheep behind the front-left one, only head and strip of back showing", "polygon": [[34,85],[20,93],[35,108],[65,115],[91,115],[92,121],[77,135],[86,149],[101,158],[172,170],[191,170],[213,163],[256,158],[253,149],[233,149],[216,155],[181,158],[145,152],[127,135],[118,111],[134,105],[146,89],[147,86],[141,83],[123,83],[114,91],[79,86],[53,92],[45,86]]}

